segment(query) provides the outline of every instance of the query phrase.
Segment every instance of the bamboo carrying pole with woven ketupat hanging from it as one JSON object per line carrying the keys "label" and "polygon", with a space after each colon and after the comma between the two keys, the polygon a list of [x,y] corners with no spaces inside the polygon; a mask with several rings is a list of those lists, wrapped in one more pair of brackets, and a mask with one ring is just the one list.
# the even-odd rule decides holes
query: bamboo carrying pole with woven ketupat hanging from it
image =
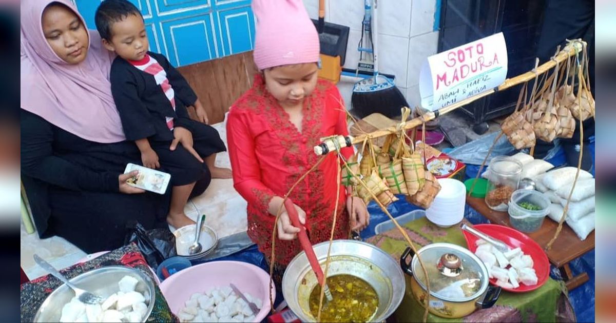
{"label": "bamboo carrying pole with woven ketupat hanging from it", "polygon": [[586,42],[582,41],[582,39],[571,41],[569,42],[569,44],[567,44],[567,46],[565,46],[564,49],[562,49],[557,55],[555,55],[553,59],[549,60],[548,62],[543,63],[542,65],[538,66],[533,71],[520,74],[516,76],[515,78],[506,79],[500,86],[494,89],[490,89],[480,94],[477,94],[473,97],[466,98],[460,102],[454,103],[453,105],[444,106],[443,108],[440,108],[437,111],[431,111],[431,112],[425,113],[418,118],[411,119],[407,122],[404,122],[403,126],[400,126],[400,125],[395,126],[395,127],[392,126],[386,129],[379,129],[374,132],[370,132],[369,134],[359,135],[353,138],[353,143],[354,144],[362,143],[365,140],[371,140],[374,138],[379,138],[379,137],[383,137],[383,136],[390,135],[390,134],[397,134],[402,129],[413,129],[423,124],[424,122],[428,122],[428,121],[431,121],[432,119],[437,118],[437,116],[450,113],[451,111],[456,110],[457,108],[460,108],[461,106],[468,105],[471,102],[479,100],[480,98],[483,98],[483,97],[487,97],[488,95],[493,94],[497,91],[506,90],[506,89],[509,89],[509,87],[517,86],[518,84],[528,82],[532,79],[535,79],[537,77],[537,74],[546,73],[547,71],[554,68],[556,66],[556,63],[563,62],[564,60],[567,60],[567,58],[575,56],[576,54],[582,51],[584,46],[586,46]]}

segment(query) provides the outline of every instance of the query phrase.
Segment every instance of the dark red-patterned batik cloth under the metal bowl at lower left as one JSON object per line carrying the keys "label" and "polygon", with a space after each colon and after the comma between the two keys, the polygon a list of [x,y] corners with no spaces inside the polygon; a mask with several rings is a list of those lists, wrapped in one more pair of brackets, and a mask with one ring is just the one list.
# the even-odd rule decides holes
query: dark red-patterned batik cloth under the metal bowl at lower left
{"label": "dark red-patterned batik cloth under the metal bowl at lower left", "polygon": [[[139,248],[136,244],[126,245],[119,249],[105,253],[104,255],[90,261],[62,269],[60,270],[60,273],[71,279],[79,274],[91,271],[92,269],[118,265],[137,268],[148,275],[152,281],[156,281],[152,271],[150,271],[150,268],[145,262],[143,255],[139,252]],[[33,281],[22,284],[21,321],[33,322],[36,311],[38,311],[38,308],[47,298],[47,295],[53,292],[60,285],[62,285],[62,282],[51,275],[42,276],[34,279]],[[154,303],[154,308],[152,309],[152,314],[150,314],[146,322],[179,322],[179,319],[171,313],[171,309],[169,309],[169,305],[167,305],[167,301],[164,299],[158,286],[155,286],[155,290],[156,301]]]}

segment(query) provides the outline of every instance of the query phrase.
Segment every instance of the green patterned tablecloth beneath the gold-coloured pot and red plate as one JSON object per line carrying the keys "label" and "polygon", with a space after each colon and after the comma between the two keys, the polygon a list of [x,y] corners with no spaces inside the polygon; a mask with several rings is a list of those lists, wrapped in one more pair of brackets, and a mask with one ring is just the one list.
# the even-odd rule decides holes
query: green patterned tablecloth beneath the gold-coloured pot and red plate
{"label": "green patterned tablecloth beneath the gold-coloured pot and red plate", "polygon": [[[426,218],[411,221],[403,228],[418,249],[434,242],[448,242],[466,247],[462,231],[457,226],[440,228]],[[397,229],[367,239],[392,255],[396,260],[407,247]],[[408,280],[408,277],[407,277]],[[407,284],[405,297],[394,316],[399,322],[422,322],[424,308],[419,305]],[[492,308],[478,309],[459,319],[445,319],[428,314],[428,322],[573,322],[575,314],[567,298],[567,289],[561,281],[548,281],[539,289],[527,293],[511,293],[503,290]]]}

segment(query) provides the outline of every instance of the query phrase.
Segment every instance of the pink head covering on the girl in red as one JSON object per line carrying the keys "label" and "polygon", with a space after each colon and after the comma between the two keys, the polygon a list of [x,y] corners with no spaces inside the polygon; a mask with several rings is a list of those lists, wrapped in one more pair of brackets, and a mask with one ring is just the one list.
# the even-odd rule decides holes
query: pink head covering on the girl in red
{"label": "pink head covering on the girl in red", "polygon": [[253,55],[259,70],[318,62],[317,29],[302,0],[253,0],[252,7],[257,18]]}

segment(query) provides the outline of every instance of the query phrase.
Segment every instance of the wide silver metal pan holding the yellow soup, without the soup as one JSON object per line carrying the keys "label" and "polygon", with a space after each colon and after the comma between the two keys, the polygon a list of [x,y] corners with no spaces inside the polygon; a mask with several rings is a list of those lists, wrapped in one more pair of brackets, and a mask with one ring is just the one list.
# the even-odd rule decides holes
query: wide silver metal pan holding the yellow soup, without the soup
{"label": "wide silver metal pan holding the yellow soup, without the soup", "polygon": [[[314,245],[314,252],[325,268],[329,242]],[[350,274],[368,282],[376,291],[379,306],[370,322],[384,321],[394,313],[404,297],[404,275],[400,265],[374,245],[355,240],[335,240],[331,244],[330,268],[327,276]],[[394,283],[395,282],[395,283]],[[309,298],[317,285],[306,253],[301,252],[286,267],[282,278],[282,293],[289,308],[302,322],[315,322],[310,313]]]}

